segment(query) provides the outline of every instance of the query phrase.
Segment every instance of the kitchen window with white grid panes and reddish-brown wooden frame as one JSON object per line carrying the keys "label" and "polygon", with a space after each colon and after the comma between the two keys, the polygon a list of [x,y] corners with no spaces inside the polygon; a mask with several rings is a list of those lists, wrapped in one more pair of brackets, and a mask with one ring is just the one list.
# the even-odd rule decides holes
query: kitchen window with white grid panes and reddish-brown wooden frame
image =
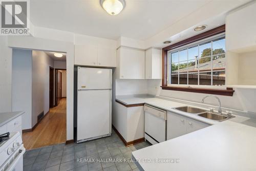
{"label": "kitchen window with white grid panes and reddish-brown wooden frame", "polygon": [[163,48],[162,89],[232,96],[225,87],[225,25]]}

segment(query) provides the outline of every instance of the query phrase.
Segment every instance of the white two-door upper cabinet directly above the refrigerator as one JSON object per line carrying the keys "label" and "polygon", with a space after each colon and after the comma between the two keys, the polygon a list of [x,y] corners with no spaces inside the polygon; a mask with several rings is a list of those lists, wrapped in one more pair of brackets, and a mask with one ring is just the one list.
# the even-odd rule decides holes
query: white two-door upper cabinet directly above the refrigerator
{"label": "white two-door upper cabinet directly above the refrigerator", "polygon": [[94,45],[75,45],[75,65],[116,67],[116,49]]}

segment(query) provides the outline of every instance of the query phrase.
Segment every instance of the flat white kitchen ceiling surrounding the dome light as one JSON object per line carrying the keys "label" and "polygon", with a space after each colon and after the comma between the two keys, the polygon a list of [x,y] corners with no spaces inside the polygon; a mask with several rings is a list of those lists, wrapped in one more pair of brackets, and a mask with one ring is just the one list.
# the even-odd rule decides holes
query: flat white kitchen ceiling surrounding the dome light
{"label": "flat white kitchen ceiling surrounding the dome light", "polygon": [[30,1],[31,22],[38,27],[117,39],[145,40],[175,24],[210,0],[126,0],[115,16],[106,13],[97,0]]}

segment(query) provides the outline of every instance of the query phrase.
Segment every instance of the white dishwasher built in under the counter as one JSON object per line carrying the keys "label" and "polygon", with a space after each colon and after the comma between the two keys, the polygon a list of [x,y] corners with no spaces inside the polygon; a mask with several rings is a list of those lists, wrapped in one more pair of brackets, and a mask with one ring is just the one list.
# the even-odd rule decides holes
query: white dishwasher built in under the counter
{"label": "white dishwasher built in under the counter", "polygon": [[151,105],[144,105],[145,139],[152,144],[166,140],[167,112]]}

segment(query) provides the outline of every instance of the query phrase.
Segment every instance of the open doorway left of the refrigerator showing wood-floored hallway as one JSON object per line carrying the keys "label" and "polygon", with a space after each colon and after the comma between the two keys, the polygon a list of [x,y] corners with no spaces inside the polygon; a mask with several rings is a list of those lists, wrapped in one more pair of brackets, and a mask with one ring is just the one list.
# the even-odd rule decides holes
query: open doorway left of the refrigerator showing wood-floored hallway
{"label": "open doorway left of the refrigerator showing wood-floored hallway", "polygon": [[[66,142],[66,53],[62,57],[29,49],[13,49],[12,98],[13,110],[25,111],[22,117],[23,143],[26,149]],[[63,68],[58,75],[61,99],[55,106],[55,68]],[[57,70],[56,70],[57,71]],[[64,74],[65,73],[65,74]],[[63,98],[64,97],[64,98]],[[54,131],[53,131],[54,130]]]}

